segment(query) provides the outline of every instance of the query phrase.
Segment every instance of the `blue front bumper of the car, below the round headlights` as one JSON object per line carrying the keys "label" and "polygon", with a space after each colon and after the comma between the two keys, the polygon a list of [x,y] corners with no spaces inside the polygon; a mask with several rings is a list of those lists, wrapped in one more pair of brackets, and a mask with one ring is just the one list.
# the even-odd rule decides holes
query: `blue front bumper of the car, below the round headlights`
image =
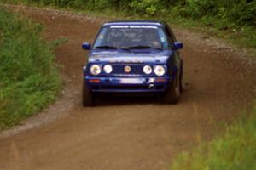
{"label": "blue front bumper of the car, below the round headlights", "polygon": [[84,77],[95,93],[160,93],[169,88],[172,77]]}

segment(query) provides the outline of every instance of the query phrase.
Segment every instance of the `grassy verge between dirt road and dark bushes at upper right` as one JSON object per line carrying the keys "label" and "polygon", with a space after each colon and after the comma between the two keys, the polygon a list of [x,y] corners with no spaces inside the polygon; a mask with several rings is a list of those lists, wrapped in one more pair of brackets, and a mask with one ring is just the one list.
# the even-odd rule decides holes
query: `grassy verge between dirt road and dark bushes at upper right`
{"label": "grassy verge between dirt road and dark bushes at upper right", "polygon": [[[170,18],[171,17],[172,16],[170,16]],[[232,28],[223,28],[221,25],[212,26],[211,19],[207,21],[191,20],[182,17],[172,17],[172,19],[168,21],[179,27],[189,28],[195,32],[202,32],[207,35],[208,38],[218,37],[222,41],[239,48],[241,51],[247,49],[249,56],[253,58],[256,57],[256,27],[234,26]]]}

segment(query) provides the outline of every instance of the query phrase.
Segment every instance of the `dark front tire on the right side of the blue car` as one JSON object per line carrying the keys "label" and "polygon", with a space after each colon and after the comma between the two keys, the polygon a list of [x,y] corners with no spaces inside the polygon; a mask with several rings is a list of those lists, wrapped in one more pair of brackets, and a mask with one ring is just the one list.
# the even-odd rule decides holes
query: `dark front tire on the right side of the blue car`
{"label": "dark front tire on the right side of the blue car", "polygon": [[166,104],[177,104],[180,97],[180,77],[178,74],[175,79],[172,80],[170,88],[167,90],[165,95]]}

